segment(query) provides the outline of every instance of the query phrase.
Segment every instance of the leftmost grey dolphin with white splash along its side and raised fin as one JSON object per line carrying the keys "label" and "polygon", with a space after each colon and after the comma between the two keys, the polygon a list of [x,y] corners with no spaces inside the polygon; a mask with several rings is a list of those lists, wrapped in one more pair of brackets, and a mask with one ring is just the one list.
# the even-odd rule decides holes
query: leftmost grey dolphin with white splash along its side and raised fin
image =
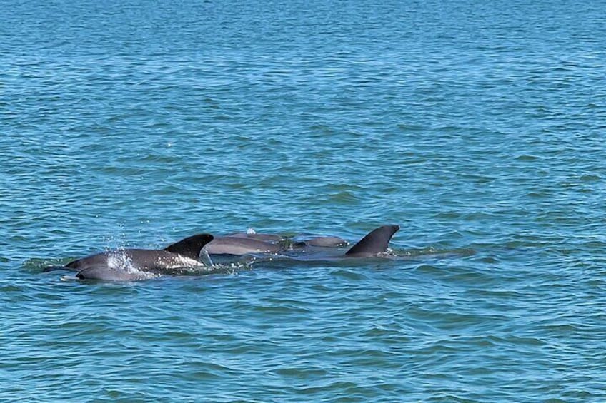
{"label": "leftmost grey dolphin with white splash along its side and raised fin", "polygon": [[205,266],[200,251],[213,240],[210,234],[184,238],[162,250],[124,249],[97,253],[69,262],[66,267],[77,270],[79,279],[141,280],[185,267]]}

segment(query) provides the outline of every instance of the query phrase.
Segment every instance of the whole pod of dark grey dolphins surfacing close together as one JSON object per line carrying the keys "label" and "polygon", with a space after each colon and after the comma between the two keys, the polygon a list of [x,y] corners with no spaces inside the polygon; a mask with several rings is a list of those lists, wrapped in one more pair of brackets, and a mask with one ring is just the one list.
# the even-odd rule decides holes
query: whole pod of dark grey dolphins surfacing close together
{"label": "whole pod of dark grey dolphins surfacing close together", "polygon": [[[334,236],[314,236],[292,241],[277,234],[258,234],[254,231],[215,236],[207,233],[192,235],[161,250],[123,249],[96,253],[73,260],[63,267],[75,270],[81,280],[128,281],[180,274],[188,268],[212,265],[209,256],[274,257],[293,260],[349,259],[379,256],[387,251],[389,241],[399,230],[398,225],[382,225],[367,233],[351,248],[344,250],[347,241]],[[204,258],[206,257],[206,258]]]}

